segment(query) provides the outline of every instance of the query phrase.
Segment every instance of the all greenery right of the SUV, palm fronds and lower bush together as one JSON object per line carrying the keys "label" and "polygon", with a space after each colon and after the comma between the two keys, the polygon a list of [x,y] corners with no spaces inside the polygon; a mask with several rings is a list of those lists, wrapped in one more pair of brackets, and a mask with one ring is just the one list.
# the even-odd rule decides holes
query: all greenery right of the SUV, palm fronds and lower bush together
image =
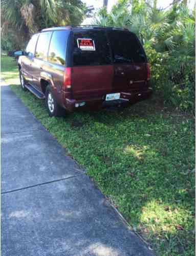
{"label": "all greenery right of the SUV, palm fronds and lower bush together", "polygon": [[151,65],[151,82],[164,101],[194,112],[195,10],[175,4],[168,11],[150,2],[119,1],[110,13],[100,10],[93,23],[136,33]]}

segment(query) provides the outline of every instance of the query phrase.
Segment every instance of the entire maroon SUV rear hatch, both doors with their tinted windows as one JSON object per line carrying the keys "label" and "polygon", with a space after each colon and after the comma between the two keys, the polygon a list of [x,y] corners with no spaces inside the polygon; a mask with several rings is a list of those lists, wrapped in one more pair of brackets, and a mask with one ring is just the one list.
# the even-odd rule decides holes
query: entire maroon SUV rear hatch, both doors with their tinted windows
{"label": "entire maroon SUV rear hatch, both doors with their tinted windows", "polygon": [[134,33],[119,29],[83,29],[74,31],[73,41],[75,99],[147,88],[147,59]]}

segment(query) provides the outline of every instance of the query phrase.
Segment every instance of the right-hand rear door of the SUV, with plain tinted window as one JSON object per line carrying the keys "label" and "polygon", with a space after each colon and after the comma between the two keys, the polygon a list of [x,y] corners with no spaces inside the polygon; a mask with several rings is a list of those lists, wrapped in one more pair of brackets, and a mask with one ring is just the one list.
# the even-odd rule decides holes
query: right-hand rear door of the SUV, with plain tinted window
{"label": "right-hand rear door of the SUV, with plain tinted window", "polygon": [[113,88],[140,90],[147,80],[145,52],[134,33],[123,30],[108,31],[114,63]]}

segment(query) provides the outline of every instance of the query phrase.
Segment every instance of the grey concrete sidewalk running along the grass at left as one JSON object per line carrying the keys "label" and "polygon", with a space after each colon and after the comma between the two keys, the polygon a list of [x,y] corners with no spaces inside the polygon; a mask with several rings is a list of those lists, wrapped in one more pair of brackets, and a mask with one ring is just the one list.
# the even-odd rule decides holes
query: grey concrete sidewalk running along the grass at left
{"label": "grey concrete sidewalk running along the grass at left", "polygon": [[2,256],[153,255],[9,86],[1,118]]}

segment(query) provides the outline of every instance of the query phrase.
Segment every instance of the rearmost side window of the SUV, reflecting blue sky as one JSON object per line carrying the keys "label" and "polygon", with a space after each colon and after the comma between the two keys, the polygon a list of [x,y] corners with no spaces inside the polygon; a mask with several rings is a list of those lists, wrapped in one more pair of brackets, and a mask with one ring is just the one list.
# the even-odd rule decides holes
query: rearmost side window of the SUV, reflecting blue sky
{"label": "rearmost side window of the SUV, reflecting blue sky", "polygon": [[66,64],[66,49],[69,33],[67,30],[53,32],[48,54],[50,62],[59,65]]}

